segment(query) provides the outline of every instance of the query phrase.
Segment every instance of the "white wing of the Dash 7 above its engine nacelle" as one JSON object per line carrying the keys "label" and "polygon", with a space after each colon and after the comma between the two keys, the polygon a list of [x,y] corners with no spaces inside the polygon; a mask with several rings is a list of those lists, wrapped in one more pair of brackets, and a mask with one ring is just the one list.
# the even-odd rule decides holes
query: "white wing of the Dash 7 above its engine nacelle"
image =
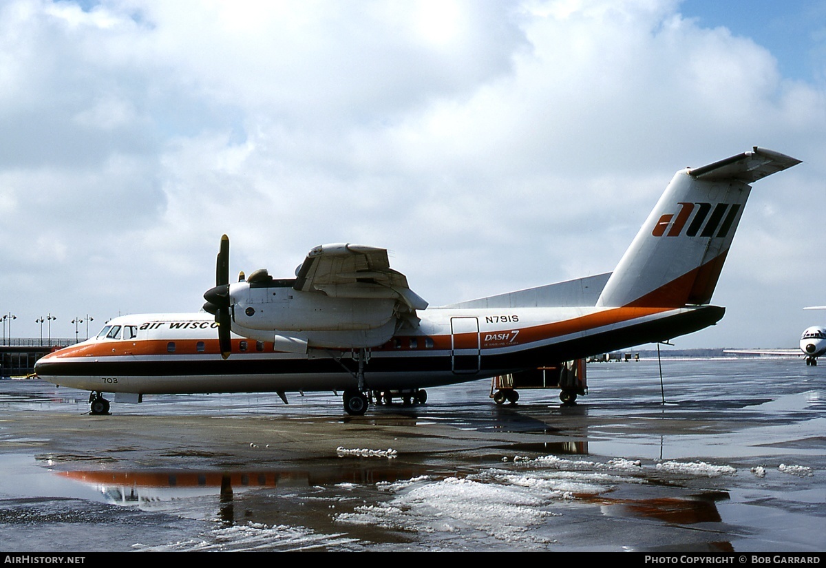
{"label": "white wing of the Dash 7 above its engine nacelle", "polygon": [[307,254],[296,271],[296,290],[337,298],[392,298],[401,311],[424,310],[427,302],[390,267],[387,249],[361,244],[322,244]]}

